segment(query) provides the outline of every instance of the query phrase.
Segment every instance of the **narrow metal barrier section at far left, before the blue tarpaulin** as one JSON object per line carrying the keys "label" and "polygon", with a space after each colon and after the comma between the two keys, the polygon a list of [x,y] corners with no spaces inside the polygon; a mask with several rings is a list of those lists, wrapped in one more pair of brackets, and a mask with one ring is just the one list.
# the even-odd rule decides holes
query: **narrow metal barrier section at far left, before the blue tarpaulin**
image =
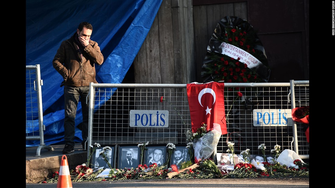
{"label": "narrow metal barrier section at far left, before the blue tarpaulin", "polygon": [[44,144],[45,126],[43,125],[42,91],[40,65],[25,66],[25,139],[40,140],[36,156],[41,156],[41,149],[54,150],[51,146]]}

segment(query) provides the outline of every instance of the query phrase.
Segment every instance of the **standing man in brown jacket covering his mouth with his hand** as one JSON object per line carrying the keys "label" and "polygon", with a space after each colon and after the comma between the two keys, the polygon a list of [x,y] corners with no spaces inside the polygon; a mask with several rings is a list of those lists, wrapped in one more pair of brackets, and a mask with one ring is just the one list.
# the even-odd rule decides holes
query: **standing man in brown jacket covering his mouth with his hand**
{"label": "standing man in brown jacket covering his mouth with his hand", "polygon": [[82,147],[87,150],[88,136],[88,101],[90,82],[95,80],[95,64],[101,65],[104,56],[98,43],[90,40],[93,27],[88,22],[81,22],[71,38],[64,40],[53,59],[53,66],[64,81],[64,141],[63,154],[74,152],[75,117],[80,99],[82,106]]}

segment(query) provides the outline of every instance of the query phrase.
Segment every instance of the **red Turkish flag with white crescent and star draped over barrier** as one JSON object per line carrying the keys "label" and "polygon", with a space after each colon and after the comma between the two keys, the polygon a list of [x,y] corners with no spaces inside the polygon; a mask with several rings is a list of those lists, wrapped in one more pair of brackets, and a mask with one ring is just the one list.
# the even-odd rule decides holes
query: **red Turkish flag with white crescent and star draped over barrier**
{"label": "red Turkish flag with white crescent and star draped over barrier", "polygon": [[227,134],[224,112],[224,83],[209,82],[187,84],[187,98],[190,107],[192,131],[195,133],[202,123],[207,130],[213,128],[213,123],[220,124],[222,135]]}

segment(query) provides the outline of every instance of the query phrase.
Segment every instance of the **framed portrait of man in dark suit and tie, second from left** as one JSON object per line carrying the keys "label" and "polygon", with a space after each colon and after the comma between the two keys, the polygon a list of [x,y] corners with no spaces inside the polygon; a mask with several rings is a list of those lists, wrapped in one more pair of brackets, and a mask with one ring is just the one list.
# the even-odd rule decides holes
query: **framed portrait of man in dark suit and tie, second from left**
{"label": "framed portrait of man in dark suit and tie, second from left", "polygon": [[140,148],[138,144],[127,144],[118,146],[118,168],[137,168],[140,164]]}

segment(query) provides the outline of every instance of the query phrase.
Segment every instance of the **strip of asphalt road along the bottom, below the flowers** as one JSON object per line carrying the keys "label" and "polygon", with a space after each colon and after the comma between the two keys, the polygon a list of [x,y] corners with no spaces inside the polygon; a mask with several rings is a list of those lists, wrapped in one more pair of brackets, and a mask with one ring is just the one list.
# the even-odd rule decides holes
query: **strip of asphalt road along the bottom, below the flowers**
{"label": "strip of asphalt road along the bottom, below the flowers", "polygon": [[[26,183],[26,188],[55,188],[57,183]],[[118,181],[86,181],[72,182],[72,187],[92,188],[92,187],[147,187],[147,188],[307,188],[310,187],[309,179],[287,178],[225,178],[225,179],[141,179],[141,180],[118,180]]]}

